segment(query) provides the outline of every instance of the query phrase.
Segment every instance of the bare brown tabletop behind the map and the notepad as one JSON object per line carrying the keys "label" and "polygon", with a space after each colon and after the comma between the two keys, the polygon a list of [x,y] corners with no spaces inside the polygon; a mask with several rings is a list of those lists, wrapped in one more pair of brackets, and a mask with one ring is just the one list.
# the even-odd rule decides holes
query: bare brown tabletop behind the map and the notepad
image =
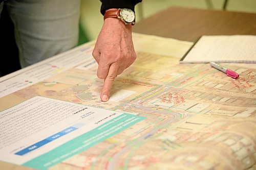
{"label": "bare brown tabletop behind the map and the notepad", "polygon": [[194,42],[202,35],[256,35],[256,14],[170,7],[139,21],[133,31]]}

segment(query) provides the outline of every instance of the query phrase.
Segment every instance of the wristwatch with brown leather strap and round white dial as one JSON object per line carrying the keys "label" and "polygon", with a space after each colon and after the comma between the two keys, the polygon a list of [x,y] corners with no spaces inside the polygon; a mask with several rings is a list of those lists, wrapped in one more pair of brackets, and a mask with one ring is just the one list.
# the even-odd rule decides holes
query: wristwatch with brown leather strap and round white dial
{"label": "wristwatch with brown leather strap and round white dial", "polygon": [[127,9],[127,8],[108,9],[104,14],[104,20],[109,17],[116,17],[120,19],[125,25],[127,25],[128,23],[135,25],[135,13],[131,9]]}

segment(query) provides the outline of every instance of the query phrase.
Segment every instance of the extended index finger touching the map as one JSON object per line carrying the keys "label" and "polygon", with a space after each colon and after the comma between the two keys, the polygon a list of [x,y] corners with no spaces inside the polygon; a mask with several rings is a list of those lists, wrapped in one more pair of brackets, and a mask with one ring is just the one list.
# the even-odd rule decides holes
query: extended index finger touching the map
{"label": "extended index finger touching the map", "polygon": [[112,87],[114,80],[117,76],[118,67],[119,66],[117,63],[112,63],[110,65],[108,76],[106,76],[106,78],[104,80],[103,88],[102,88],[101,94],[100,94],[100,99],[103,102],[106,102],[109,100],[110,90],[111,90],[111,87]]}

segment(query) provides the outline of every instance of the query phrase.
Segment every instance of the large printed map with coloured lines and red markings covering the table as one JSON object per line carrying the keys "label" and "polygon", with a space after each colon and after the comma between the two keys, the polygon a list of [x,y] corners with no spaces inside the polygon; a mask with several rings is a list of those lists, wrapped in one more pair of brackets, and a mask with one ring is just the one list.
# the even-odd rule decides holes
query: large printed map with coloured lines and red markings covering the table
{"label": "large printed map with coloured lines and red markings covering the table", "polygon": [[108,102],[99,99],[103,82],[91,56],[3,96],[0,111],[43,96],[145,117],[49,169],[256,169],[255,65],[223,64],[240,74],[232,79],[209,64],[179,64],[191,43],[164,41],[134,35],[137,59],[116,78]]}

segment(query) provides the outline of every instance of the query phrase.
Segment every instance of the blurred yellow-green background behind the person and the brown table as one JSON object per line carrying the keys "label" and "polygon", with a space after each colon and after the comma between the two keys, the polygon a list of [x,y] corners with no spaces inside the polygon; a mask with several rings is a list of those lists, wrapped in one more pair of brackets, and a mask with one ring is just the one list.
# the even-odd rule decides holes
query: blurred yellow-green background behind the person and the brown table
{"label": "blurred yellow-green background behind the person and the brown table", "polygon": [[[82,0],[79,43],[95,40],[103,24],[99,0]],[[171,6],[256,13],[256,0],[142,0],[136,22]]]}

